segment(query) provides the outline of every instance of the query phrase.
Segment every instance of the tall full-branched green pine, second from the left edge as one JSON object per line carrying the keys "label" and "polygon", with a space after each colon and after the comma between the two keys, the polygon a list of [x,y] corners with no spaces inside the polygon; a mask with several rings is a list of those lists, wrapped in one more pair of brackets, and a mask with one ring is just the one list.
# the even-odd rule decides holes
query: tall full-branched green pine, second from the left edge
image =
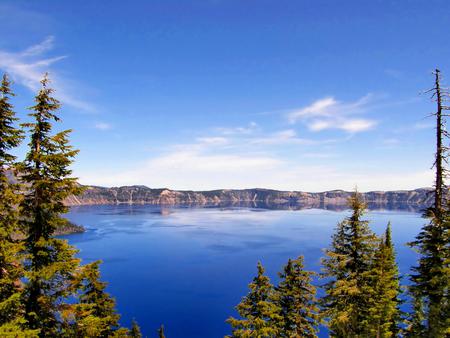
{"label": "tall full-branched green pine, second from the left edge", "polygon": [[31,329],[40,329],[41,336],[57,336],[60,312],[71,296],[70,283],[79,266],[76,250],[67,241],[54,238],[55,229],[66,221],[63,204],[66,197],[78,194],[76,179],[69,169],[77,154],[68,144],[70,130],[51,135],[52,122],[59,121],[59,102],[51,96],[47,76],[31,107],[34,122],[29,128],[29,152],[21,166],[21,179],[27,186],[20,205],[22,223],[26,229],[25,265],[27,280],[24,290],[26,319]]}

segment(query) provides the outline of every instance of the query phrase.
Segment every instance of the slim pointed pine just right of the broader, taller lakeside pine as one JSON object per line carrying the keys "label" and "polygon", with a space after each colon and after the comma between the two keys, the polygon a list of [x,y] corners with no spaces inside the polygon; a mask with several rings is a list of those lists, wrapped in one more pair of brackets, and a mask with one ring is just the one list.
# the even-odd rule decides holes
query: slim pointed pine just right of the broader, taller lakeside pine
{"label": "slim pointed pine just right of the broader, taller lakeside pine", "polygon": [[371,278],[368,290],[373,295],[367,303],[370,336],[397,337],[401,321],[400,280],[390,223],[375,253]]}

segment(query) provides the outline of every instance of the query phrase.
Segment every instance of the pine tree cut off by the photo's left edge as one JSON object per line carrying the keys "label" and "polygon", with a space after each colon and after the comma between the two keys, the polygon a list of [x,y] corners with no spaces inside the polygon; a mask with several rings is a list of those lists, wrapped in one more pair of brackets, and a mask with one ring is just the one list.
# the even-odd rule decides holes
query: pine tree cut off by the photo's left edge
{"label": "pine tree cut off by the photo's left edge", "polygon": [[15,117],[10,98],[8,77],[0,85],[0,336],[34,336],[36,331],[23,331],[25,309],[21,303],[24,276],[22,268],[23,235],[18,226],[19,185],[7,177],[15,171],[15,157],[10,150],[22,141],[22,131],[14,126]]}

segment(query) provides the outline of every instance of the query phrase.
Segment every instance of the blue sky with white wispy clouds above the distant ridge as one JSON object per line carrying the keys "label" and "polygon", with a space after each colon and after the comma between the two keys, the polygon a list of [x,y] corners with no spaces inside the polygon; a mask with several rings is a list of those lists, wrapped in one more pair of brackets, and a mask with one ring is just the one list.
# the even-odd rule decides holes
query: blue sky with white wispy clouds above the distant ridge
{"label": "blue sky with white wispy clouds above the distant ridge", "polygon": [[49,72],[83,184],[433,183],[448,0],[2,0],[0,31],[18,116]]}

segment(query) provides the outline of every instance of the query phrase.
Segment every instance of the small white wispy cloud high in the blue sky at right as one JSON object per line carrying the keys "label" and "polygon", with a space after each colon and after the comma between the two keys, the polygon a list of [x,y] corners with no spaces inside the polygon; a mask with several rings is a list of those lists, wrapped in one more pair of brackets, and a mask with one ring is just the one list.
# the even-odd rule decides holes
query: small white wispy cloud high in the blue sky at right
{"label": "small white wispy cloud high in the blue sky at right", "polygon": [[334,97],[317,100],[304,108],[288,113],[291,124],[304,123],[309,130],[319,132],[337,129],[357,133],[373,129],[377,121],[357,116],[367,111],[372,95],[368,94],[355,102],[340,102]]}

